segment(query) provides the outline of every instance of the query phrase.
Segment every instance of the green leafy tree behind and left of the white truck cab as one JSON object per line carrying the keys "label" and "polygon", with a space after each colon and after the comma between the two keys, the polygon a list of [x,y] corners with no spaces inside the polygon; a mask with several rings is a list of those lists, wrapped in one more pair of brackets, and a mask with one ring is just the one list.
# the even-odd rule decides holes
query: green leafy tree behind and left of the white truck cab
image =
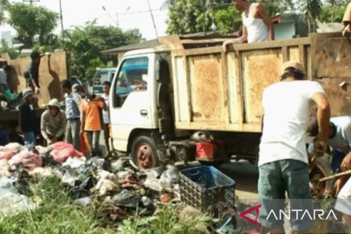
{"label": "green leafy tree behind and left of the white truck cab", "polygon": [[65,51],[70,51],[73,75],[92,78],[97,67],[116,65],[117,57],[101,53],[106,49],[120,47],[142,40],[138,29],[122,31],[112,26],[98,26],[96,21],[87,22],[83,27],[74,27],[65,32]]}

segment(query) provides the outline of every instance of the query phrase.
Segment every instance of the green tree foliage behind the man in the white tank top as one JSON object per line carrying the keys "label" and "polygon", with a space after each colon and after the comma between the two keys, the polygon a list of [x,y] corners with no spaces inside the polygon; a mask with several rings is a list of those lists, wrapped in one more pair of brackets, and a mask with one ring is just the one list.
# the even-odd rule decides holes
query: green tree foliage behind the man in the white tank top
{"label": "green tree foliage behind the man in the white tank top", "polygon": [[[263,3],[270,15],[293,7],[292,0],[257,0]],[[169,8],[168,34],[190,34],[211,30],[214,23],[222,34],[238,29],[241,14],[231,6],[231,0],[167,0]]]}

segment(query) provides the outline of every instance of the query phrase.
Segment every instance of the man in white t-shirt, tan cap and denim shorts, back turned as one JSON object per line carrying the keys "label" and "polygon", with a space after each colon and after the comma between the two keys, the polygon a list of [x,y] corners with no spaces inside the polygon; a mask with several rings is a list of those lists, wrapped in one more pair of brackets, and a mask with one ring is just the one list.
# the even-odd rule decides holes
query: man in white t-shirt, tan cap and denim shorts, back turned
{"label": "man in white t-shirt, tan cap and denim shorts, back turned", "polygon": [[[258,219],[270,233],[285,233],[283,220],[271,219],[272,215],[267,218],[271,209],[276,214],[283,209],[285,192],[289,195],[291,209],[312,212],[305,146],[310,101],[316,102],[318,108],[320,127],[314,143],[318,151],[326,149],[330,118],[330,107],[322,86],[305,80],[301,63],[284,63],[280,81],[266,88],[262,98],[264,119],[258,161],[258,193],[262,209]],[[303,232],[313,225],[312,220],[300,220],[296,215],[296,212],[291,213],[291,227],[295,232]]]}

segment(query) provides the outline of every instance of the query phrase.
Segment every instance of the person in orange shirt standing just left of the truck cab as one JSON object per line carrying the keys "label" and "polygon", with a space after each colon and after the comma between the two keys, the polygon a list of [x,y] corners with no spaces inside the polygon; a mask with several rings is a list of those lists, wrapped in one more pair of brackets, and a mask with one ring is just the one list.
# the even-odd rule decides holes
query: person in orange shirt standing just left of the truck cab
{"label": "person in orange shirt standing just left of the truck cab", "polygon": [[105,100],[92,94],[80,103],[81,129],[80,134],[86,134],[87,145],[90,156],[97,156],[100,153],[99,139],[101,122],[99,108],[107,111]]}

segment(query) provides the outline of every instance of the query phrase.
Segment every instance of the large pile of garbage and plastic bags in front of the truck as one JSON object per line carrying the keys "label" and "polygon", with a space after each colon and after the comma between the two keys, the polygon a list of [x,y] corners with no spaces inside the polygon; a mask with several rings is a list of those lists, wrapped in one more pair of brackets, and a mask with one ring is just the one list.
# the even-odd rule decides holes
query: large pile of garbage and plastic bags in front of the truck
{"label": "large pile of garbage and plastic bags in front of the truck", "polygon": [[47,176],[60,178],[77,204],[87,206],[98,198],[115,222],[135,212],[152,215],[161,203],[180,202],[175,166],[167,166],[162,173],[157,168],[141,172],[126,158],[86,160],[65,142],[49,147],[10,143],[0,147],[0,213],[35,209],[26,195],[34,181]]}

